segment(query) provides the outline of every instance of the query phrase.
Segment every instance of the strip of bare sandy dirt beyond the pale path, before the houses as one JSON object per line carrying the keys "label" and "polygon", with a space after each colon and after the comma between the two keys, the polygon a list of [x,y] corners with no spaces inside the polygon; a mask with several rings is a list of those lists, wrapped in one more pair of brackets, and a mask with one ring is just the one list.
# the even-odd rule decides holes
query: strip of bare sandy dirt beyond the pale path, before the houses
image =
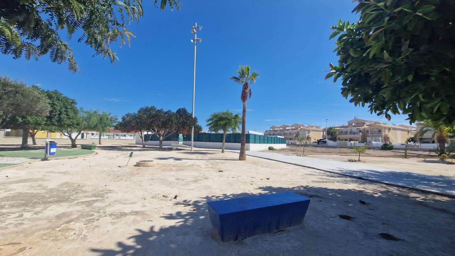
{"label": "strip of bare sandy dirt beyond the pale path, before the houses", "polygon": [[[294,154],[298,150],[297,154]],[[278,150],[265,150],[264,152],[301,155],[301,147],[288,147]],[[389,168],[400,171],[407,171],[418,174],[427,175],[443,175],[455,177],[455,161],[447,159],[440,161],[434,153],[433,156],[427,157],[424,161],[423,155],[428,155],[428,152],[410,151],[409,158],[404,159],[403,151],[386,151],[377,149],[367,149],[364,154],[360,155],[362,164]],[[358,154],[354,154],[349,148],[313,148],[305,147],[304,157],[336,160],[346,162],[348,159],[359,158]]]}

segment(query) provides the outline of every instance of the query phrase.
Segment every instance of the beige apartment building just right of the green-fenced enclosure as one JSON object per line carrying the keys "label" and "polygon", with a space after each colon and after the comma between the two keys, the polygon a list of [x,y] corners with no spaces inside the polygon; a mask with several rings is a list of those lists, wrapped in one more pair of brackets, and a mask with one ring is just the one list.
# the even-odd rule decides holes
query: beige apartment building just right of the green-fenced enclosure
{"label": "beige apartment building just right of the green-fenced enclosure", "polygon": [[305,136],[307,140],[316,141],[322,138],[322,129],[316,125],[304,125],[294,123],[282,126],[273,125],[264,132],[267,136],[283,136],[286,140],[296,140],[299,136]]}

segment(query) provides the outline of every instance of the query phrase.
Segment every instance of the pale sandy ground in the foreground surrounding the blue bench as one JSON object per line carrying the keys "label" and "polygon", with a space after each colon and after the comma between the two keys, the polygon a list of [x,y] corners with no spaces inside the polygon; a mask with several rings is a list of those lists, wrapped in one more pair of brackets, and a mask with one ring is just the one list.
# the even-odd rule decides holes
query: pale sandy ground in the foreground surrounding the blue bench
{"label": "pale sandy ground in the foreground surrounding the blue bench", "polygon": [[[96,152],[0,171],[0,255],[455,254],[450,198],[232,152]],[[311,198],[302,225],[217,241],[208,201],[284,191]]]}

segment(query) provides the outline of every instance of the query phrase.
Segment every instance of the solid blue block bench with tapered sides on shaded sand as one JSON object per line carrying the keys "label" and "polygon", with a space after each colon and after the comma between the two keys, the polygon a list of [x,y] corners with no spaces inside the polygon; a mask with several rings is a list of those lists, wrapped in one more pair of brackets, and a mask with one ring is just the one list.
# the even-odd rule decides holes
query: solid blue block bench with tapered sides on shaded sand
{"label": "solid blue block bench with tapered sides on shaded sand", "polygon": [[221,241],[237,241],[303,222],[310,199],[292,192],[207,203]]}

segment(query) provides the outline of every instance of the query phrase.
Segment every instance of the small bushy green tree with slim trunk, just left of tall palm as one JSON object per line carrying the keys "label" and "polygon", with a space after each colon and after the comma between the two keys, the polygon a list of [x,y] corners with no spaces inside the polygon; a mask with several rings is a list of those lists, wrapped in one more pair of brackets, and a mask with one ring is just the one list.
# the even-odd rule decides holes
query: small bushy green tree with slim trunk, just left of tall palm
{"label": "small bushy green tree with slim trunk, just left of tall palm", "polygon": [[224,153],[224,144],[226,141],[226,133],[231,131],[235,132],[240,127],[242,119],[240,114],[233,114],[228,110],[220,111],[217,113],[212,113],[210,117],[206,120],[208,130],[211,132],[217,133],[218,131],[223,131],[223,145],[221,147],[221,153]]}

